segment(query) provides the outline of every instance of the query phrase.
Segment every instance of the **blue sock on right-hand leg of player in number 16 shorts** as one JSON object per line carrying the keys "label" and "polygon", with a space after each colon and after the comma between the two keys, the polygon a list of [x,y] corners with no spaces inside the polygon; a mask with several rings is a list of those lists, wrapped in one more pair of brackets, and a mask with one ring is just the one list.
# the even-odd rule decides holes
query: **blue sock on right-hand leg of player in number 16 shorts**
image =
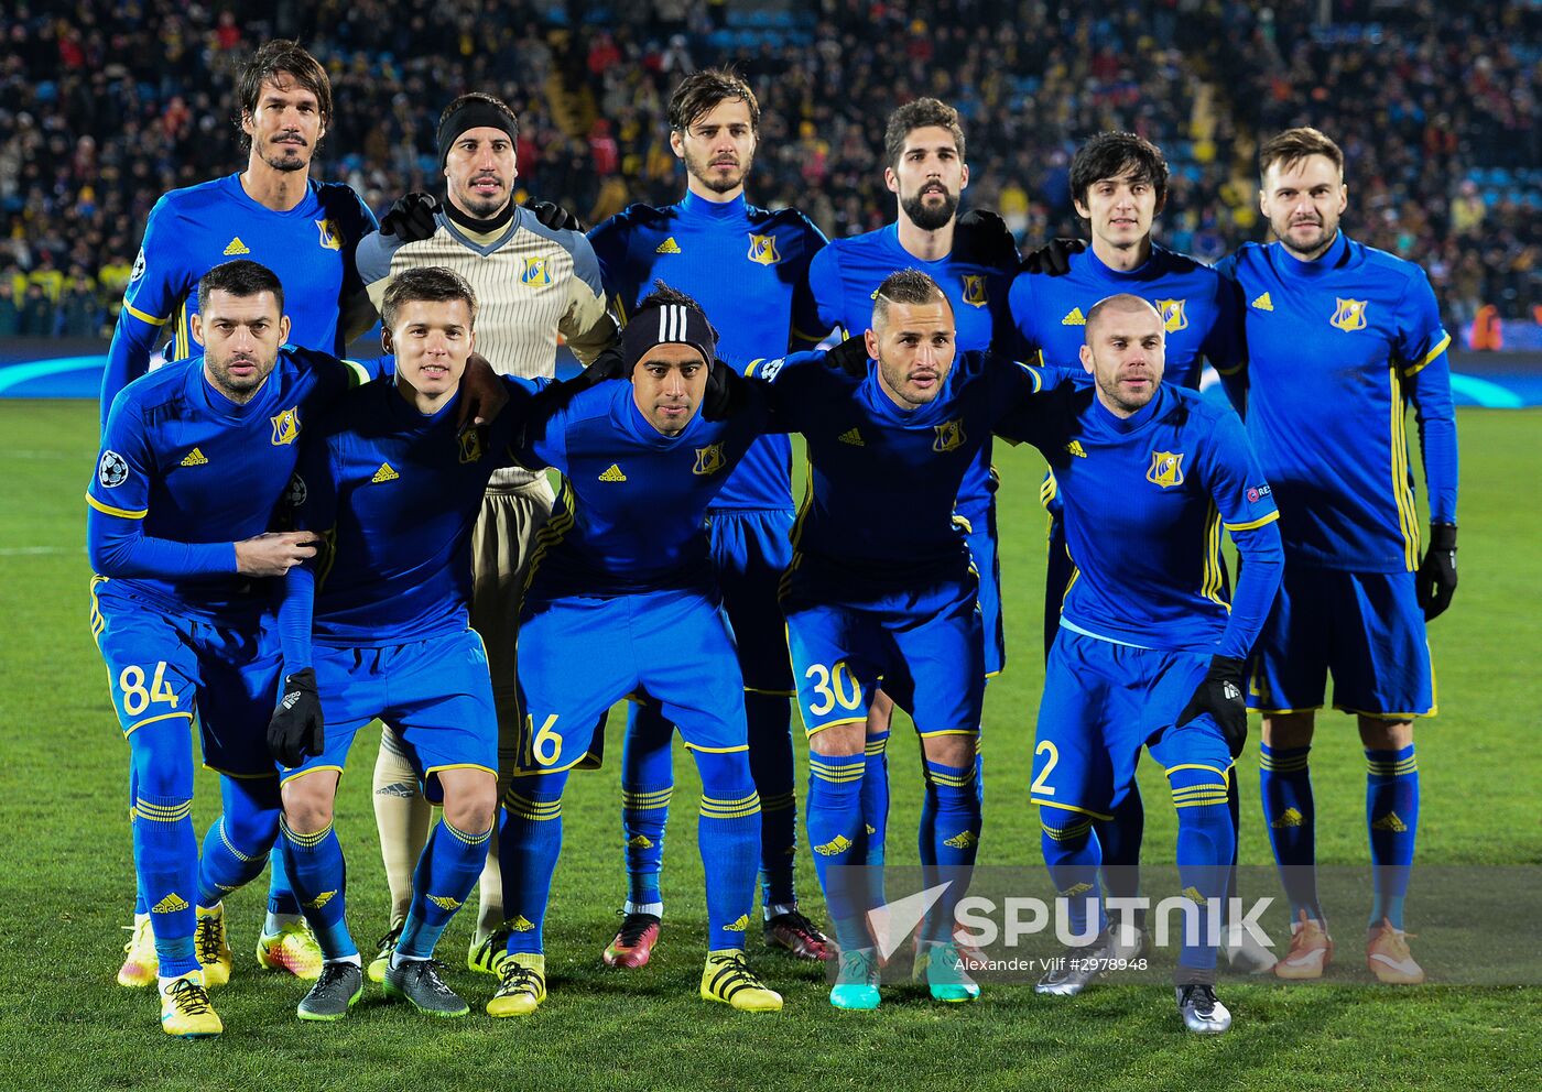
{"label": "blue sock on right-hand leg of player in number 16 shorts", "polygon": [[742,949],[760,870],[760,796],[745,752],[692,750],[702,773],[697,844],[706,870],[708,950]]}

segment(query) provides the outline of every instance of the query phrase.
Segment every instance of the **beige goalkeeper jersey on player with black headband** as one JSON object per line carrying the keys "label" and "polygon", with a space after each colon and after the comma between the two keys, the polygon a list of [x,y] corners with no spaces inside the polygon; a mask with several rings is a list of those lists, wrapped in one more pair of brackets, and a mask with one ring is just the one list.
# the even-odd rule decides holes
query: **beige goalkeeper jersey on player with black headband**
{"label": "beige goalkeeper jersey on player with black headband", "polygon": [[[435,220],[435,233],[419,242],[402,243],[379,231],[359,242],[359,277],[376,310],[393,276],[441,265],[476,293],[476,351],[500,374],[550,379],[558,334],[583,363],[615,339],[600,263],[583,233],[547,228],[524,208],[487,236],[467,231],[443,209]],[[527,481],[523,470],[493,476],[493,485]]]}

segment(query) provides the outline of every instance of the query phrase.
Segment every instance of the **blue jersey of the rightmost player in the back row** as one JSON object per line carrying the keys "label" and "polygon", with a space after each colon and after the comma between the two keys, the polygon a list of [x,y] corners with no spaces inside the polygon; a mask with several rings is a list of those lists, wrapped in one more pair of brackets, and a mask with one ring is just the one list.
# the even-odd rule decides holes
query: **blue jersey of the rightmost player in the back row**
{"label": "blue jersey of the rightmost player in the back row", "polygon": [[1425,271],[1342,233],[1315,262],[1244,245],[1217,266],[1246,308],[1246,420],[1292,561],[1419,567],[1406,410],[1423,439],[1429,518],[1456,522],[1451,336]]}

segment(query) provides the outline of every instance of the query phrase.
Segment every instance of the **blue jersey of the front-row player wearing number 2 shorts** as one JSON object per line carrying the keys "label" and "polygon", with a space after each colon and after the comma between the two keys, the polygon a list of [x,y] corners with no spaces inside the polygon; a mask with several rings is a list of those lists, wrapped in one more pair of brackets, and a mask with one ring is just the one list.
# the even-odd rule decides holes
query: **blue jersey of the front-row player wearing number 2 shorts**
{"label": "blue jersey of the front-row player wearing number 2 shorts", "polygon": [[[1280,582],[1278,511],[1229,407],[1163,382],[1121,419],[1076,376],[996,431],[1038,447],[1055,471],[1076,561],[1061,625],[1144,648],[1247,655]],[[1221,528],[1246,559],[1235,610]]]}

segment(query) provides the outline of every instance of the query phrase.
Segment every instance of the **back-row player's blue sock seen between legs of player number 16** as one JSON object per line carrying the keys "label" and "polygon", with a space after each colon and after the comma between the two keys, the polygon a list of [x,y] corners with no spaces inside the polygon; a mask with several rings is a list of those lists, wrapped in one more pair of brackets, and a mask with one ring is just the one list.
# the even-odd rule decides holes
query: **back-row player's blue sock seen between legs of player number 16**
{"label": "back-row player's blue sock seen between legs of player number 16", "polygon": [[626,901],[660,906],[658,875],[665,824],[674,792],[674,724],[658,705],[632,702],[621,750],[621,836],[626,853]]}

